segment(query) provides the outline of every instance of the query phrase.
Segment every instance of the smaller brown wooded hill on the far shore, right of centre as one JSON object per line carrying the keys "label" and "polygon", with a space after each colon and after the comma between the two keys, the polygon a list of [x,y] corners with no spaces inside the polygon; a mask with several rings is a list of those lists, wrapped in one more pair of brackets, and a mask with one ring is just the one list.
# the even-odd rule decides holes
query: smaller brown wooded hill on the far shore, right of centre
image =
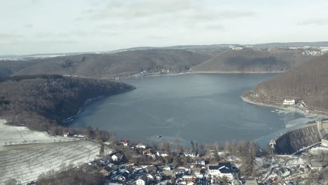
{"label": "smaller brown wooded hill on the far shore, right of centre", "polygon": [[309,58],[297,50],[226,50],[193,71],[280,72]]}

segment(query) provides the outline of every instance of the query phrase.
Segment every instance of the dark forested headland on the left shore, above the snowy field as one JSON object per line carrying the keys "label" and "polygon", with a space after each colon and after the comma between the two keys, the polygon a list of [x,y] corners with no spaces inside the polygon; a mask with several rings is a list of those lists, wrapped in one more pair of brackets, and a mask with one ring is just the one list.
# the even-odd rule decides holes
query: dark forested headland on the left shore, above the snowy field
{"label": "dark forested headland on the left shore, above the snowy field", "polygon": [[0,116],[14,124],[45,130],[75,115],[92,97],[134,88],[125,83],[60,75],[0,78]]}

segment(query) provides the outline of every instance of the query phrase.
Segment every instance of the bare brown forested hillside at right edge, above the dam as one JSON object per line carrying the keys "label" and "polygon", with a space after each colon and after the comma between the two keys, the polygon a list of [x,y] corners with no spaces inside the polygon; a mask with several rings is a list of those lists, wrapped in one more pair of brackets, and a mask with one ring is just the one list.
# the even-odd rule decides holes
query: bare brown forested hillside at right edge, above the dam
{"label": "bare brown forested hillside at right edge, above the dam", "polygon": [[291,97],[310,109],[328,111],[328,54],[271,78],[244,95],[258,102],[279,102]]}

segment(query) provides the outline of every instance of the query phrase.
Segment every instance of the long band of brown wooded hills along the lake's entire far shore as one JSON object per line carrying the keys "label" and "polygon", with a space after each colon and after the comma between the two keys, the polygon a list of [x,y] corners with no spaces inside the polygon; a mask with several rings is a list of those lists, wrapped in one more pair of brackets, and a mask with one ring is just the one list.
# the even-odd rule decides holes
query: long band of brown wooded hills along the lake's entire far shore
{"label": "long band of brown wooded hills along the lake's entire far shore", "polygon": [[114,53],[2,60],[0,76],[61,74],[88,78],[116,78],[160,71],[281,72],[310,58],[308,55],[302,55],[302,50],[286,48],[232,50],[227,45],[172,46],[141,50],[135,48]]}

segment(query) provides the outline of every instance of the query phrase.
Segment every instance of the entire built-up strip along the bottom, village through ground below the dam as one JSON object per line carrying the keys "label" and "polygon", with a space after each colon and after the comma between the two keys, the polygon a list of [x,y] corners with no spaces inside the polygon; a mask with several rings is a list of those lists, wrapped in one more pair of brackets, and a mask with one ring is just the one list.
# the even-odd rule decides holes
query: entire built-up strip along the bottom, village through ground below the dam
{"label": "entire built-up strip along the bottom, village through ground below the dam", "polygon": [[[302,184],[303,179],[320,178],[320,172],[327,171],[327,139],[326,135],[322,144],[297,155],[280,156],[270,153],[270,147],[268,151],[257,148],[252,156],[249,142],[231,142],[224,149],[191,142],[190,149],[171,149],[167,142],[149,146],[121,140],[104,143],[114,153],[86,165],[99,167],[106,184]],[[250,155],[238,154],[242,144],[249,147]],[[252,160],[246,162],[249,156]]]}

